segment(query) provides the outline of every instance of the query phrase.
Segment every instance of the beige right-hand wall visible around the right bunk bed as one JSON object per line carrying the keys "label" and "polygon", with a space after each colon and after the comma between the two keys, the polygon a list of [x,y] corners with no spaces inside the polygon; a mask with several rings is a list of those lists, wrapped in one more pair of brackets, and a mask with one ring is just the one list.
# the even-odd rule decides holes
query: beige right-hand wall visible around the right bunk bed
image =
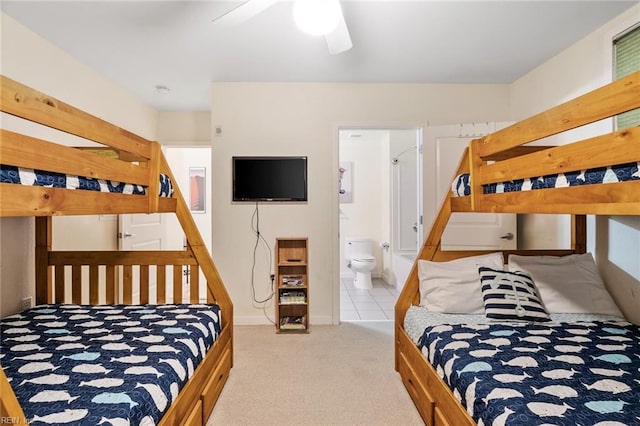
{"label": "beige right-hand wall visible around the right bunk bed", "polygon": [[[638,22],[640,5],[512,84],[512,119],[527,117],[610,82],[612,40],[616,34]],[[573,135],[588,137],[611,129],[612,122],[607,120]],[[556,138],[553,142],[562,143],[564,138]],[[528,245],[538,245],[540,239],[566,245],[566,219],[543,215],[522,219],[521,227],[540,230],[537,237],[527,241]],[[598,217],[597,221],[590,218],[589,231],[589,249],[595,252],[609,290],[625,316],[640,323],[640,217]]]}

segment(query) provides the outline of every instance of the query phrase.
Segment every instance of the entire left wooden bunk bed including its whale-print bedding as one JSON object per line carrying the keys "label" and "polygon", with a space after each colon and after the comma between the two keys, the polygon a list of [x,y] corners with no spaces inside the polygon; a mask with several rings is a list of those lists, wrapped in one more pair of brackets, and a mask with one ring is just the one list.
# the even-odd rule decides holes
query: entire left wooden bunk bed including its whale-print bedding
{"label": "entire left wooden bunk bed including its whale-print bedding", "polygon": [[[0,217],[35,217],[36,239],[36,307],[0,319],[0,416],[205,424],[232,366],[233,304],[160,145],[5,76],[0,85],[2,112],[47,139],[83,141],[0,129]],[[53,216],[149,213],[176,215],[184,250],[53,247]]]}

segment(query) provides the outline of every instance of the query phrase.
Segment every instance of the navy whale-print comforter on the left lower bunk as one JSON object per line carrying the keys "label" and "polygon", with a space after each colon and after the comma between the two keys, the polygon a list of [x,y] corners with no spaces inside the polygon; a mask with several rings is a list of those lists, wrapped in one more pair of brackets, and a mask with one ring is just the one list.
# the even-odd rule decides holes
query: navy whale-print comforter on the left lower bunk
{"label": "navy whale-print comforter on the left lower bunk", "polygon": [[42,305],[0,321],[33,425],[154,425],[220,333],[217,305]]}

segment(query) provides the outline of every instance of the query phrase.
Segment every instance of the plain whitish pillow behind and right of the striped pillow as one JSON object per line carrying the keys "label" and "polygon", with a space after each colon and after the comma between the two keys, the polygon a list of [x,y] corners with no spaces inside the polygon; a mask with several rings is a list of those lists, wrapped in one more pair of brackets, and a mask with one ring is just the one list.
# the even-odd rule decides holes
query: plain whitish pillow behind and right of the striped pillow
{"label": "plain whitish pillow behind and right of the striped pillow", "polygon": [[622,317],[591,253],[569,256],[509,256],[509,270],[533,278],[547,312]]}

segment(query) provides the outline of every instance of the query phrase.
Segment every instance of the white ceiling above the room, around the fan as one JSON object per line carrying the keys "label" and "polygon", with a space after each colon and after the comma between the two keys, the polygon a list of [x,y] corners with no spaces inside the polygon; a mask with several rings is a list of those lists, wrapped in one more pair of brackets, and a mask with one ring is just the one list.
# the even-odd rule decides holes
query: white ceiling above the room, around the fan
{"label": "white ceiling above the room, around the fan", "polygon": [[[282,1],[11,1],[1,9],[159,110],[208,110],[212,81],[511,83],[639,1],[353,1],[353,48],[327,52]],[[160,94],[155,86],[171,89]]]}

